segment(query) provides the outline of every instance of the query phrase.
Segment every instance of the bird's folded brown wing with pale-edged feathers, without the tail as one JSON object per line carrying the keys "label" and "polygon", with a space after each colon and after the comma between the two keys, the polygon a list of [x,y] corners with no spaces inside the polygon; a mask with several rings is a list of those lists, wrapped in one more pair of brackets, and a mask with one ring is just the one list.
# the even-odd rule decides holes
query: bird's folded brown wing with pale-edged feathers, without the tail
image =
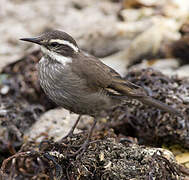
{"label": "bird's folded brown wing with pale-edged feathers, without the tail", "polygon": [[[99,87],[115,95],[123,95],[121,91],[123,85],[124,95],[144,95],[145,92],[142,91],[143,89],[140,86],[122,79],[115,70],[102,63],[96,57],[80,53],[78,59],[80,60],[74,63],[77,64],[77,66],[75,65],[74,72],[86,79],[90,87]],[[115,84],[120,85],[120,88],[115,88]],[[126,90],[128,94],[126,94]]]}

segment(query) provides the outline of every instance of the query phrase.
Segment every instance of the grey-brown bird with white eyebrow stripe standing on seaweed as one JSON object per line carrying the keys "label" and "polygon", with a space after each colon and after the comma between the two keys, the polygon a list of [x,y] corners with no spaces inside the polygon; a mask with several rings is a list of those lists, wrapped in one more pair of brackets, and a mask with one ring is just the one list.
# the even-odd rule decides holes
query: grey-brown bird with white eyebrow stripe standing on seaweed
{"label": "grey-brown bird with white eyebrow stripe standing on seaweed", "polygon": [[94,117],[88,136],[75,155],[87,150],[95,125],[103,113],[126,100],[136,99],[150,107],[181,116],[178,110],[150,97],[144,88],[123,79],[97,57],[83,51],[66,32],[52,30],[38,37],[20,40],[41,47],[43,56],[38,63],[38,75],[46,95],[57,105],[79,114],[65,137],[73,135],[82,115]]}

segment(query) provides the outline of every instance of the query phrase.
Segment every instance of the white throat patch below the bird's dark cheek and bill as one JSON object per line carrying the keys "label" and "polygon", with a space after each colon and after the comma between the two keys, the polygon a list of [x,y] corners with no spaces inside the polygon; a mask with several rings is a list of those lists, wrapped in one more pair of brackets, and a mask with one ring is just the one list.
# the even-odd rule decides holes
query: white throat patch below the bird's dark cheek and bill
{"label": "white throat patch below the bird's dark cheek and bill", "polygon": [[56,52],[50,51],[47,48],[45,48],[44,46],[41,46],[41,50],[44,54],[47,54],[51,59],[58,61],[59,63],[61,63],[63,66],[65,66],[67,63],[71,63],[72,62],[72,58],[70,57],[65,57],[62,55],[59,55]]}

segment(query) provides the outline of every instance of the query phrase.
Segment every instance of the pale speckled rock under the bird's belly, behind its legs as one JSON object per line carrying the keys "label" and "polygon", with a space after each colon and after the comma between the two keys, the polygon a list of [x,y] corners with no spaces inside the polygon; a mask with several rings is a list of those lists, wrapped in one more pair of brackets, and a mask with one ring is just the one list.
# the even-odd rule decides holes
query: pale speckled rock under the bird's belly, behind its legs
{"label": "pale speckled rock under the bird's belly, behind its legs", "polygon": [[[37,142],[45,138],[53,138],[58,141],[69,132],[77,118],[77,114],[71,114],[63,108],[47,111],[25,133],[24,137],[28,140],[35,139]],[[77,131],[76,128],[75,132]]]}

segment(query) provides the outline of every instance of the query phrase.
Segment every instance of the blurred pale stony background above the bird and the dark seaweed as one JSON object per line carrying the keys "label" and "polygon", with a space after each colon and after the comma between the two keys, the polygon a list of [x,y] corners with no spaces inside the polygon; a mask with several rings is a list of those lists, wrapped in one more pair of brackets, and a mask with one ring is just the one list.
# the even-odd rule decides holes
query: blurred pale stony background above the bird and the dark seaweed
{"label": "blurred pale stony background above the bird and the dark seaweed", "polygon": [[188,0],[1,0],[0,67],[38,48],[19,38],[59,29],[122,75],[150,66],[189,76],[188,17]]}

